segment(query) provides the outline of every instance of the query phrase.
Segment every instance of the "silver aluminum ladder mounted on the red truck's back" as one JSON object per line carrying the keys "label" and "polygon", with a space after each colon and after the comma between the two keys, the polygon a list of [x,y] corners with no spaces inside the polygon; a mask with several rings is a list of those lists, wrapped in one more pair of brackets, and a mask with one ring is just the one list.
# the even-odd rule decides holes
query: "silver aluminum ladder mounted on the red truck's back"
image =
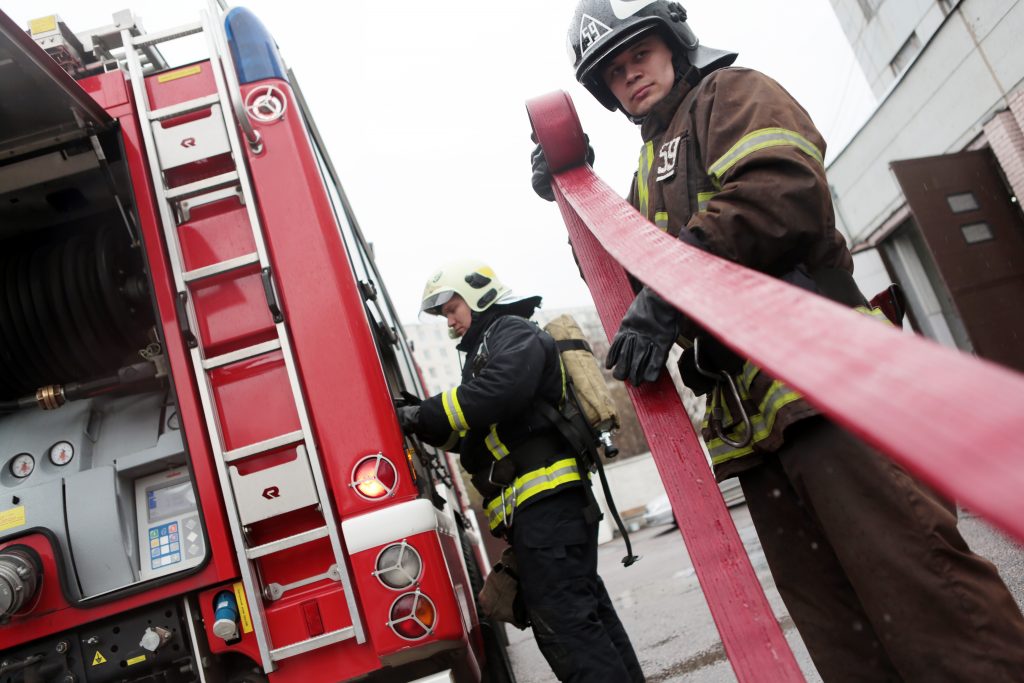
{"label": "silver aluminum ladder mounted on the red truck's back", "polygon": [[[139,51],[152,49],[157,44],[195,34],[205,34],[217,92],[171,106],[151,110],[144,85],[145,75],[139,58]],[[183,330],[183,333],[189,347],[193,371],[198,380],[206,425],[210,432],[211,446],[217,464],[224,505],[227,508],[227,517],[238,554],[242,583],[248,596],[253,631],[259,645],[263,669],[269,673],[276,669],[275,663],[282,659],[321,647],[327,647],[349,638],[355,638],[356,642],[362,643],[366,641],[366,634],[352,595],[351,580],[342,551],[338,524],[332,511],[324,471],[313,441],[309,415],[299,385],[295,357],[292,352],[289,333],[285,327],[285,316],[280,305],[276,303],[278,298],[271,275],[272,270],[267,257],[262,227],[256,211],[253,188],[249,180],[245,150],[240,139],[236,120],[232,117],[232,111],[238,114],[239,123],[246,128],[247,141],[256,154],[259,154],[261,151],[261,142],[258,132],[252,129],[245,116],[244,109],[241,106],[241,91],[234,75],[234,68],[231,63],[226,38],[220,26],[219,12],[212,6],[210,11],[203,12],[201,22],[140,36],[133,36],[131,32],[126,30],[122,32],[122,40],[124,42],[129,77],[141,119],[140,124],[150,171],[156,185],[155,190],[164,239],[167,244],[171,268],[174,274],[178,314],[179,317],[184,316],[187,321],[187,330]],[[232,99],[232,93],[237,95],[237,99]],[[205,142],[202,145],[193,146],[182,152],[172,148],[162,138],[165,135],[164,129],[160,125],[162,121],[207,110],[210,111],[209,117],[181,124],[177,128],[180,129],[183,126],[189,125],[206,126],[207,128],[204,129],[206,135],[203,137],[204,139],[213,139],[212,142]],[[222,130],[215,131],[215,134],[210,135],[211,131],[208,127],[211,125],[222,127]],[[167,186],[165,171],[169,168],[209,159],[227,152],[230,153],[234,170],[196,180],[184,185]],[[189,207],[215,202],[232,195],[238,196],[246,208],[246,214],[256,246],[255,251],[201,268],[186,270],[177,228],[187,220]],[[193,297],[190,296],[190,286],[196,286],[197,283],[215,275],[224,275],[232,271],[253,268],[256,264],[258,264],[262,274],[264,289],[267,294],[267,303],[273,317],[275,338],[222,355],[205,357],[200,340],[191,333],[193,330],[198,331],[199,327],[197,325],[198,314]],[[217,368],[229,364],[256,358],[279,350],[287,370],[292,398],[295,402],[301,428],[297,431],[280,434],[243,447],[225,450],[223,430],[214,401],[210,373]],[[287,500],[282,500],[284,497],[276,499],[274,502],[279,503],[280,507],[278,513],[285,514],[286,512],[303,507],[315,506],[323,515],[323,524],[295,536],[278,539],[258,546],[251,546],[247,541],[245,527],[248,523],[267,518],[265,516],[265,502],[256,501],[263,509],[263,517],[258,517],[258,513],[253,511],[251,505],[255,500],[254,497],[259,497],[260,492],[265,492],[263,486],[266,479],[261,480],[258,476],[261,472],[241,477],[238,474],[238,470],[231,467],[231,463],[258,457],[286,446],[294,446],[298,458],[287,464],[287,466],[276,466],[269,469],[278,470],[275,475],[279,480],[284,477],[290,484],[295,484],[290,486],[290,489],[298,489],[299,493],[289,497]],[[254,515],[257,516],[254,517]],[[334,564],[326,567],[322,573],[311,575],[288,586],[276,584],[263,586],[259,582],[257,567],[254,564],[255,560],[324,538],[330,539]],[[288,590],[326,579],[337,581],[342,585],[352,622],[351,626],[298,642],[286,644],[274,643],[264,612],[264,601],[279,599]]]}

